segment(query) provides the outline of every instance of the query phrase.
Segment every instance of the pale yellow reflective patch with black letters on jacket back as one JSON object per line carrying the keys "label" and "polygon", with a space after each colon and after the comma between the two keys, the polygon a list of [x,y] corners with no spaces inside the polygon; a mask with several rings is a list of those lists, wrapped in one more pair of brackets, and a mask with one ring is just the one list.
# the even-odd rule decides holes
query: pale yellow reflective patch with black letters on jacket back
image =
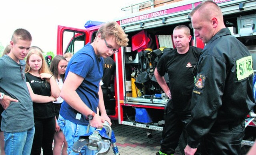
{"label": "pale yellow reflective patch with black letters on jacket back", "polygon": [[252,56],[247,56],[236,60],[236,77],[238,81],[249,77],[252,73]]}

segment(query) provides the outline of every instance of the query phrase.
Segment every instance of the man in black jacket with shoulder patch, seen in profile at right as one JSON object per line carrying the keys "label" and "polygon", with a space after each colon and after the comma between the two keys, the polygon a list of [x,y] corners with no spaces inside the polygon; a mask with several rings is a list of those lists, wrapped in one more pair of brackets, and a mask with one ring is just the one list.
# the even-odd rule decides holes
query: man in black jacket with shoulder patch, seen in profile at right
{"label": "man in black jacket with shoulder patch, seen in profile at right", "polygon": [[252,56],[231,36],[212,0],[199,4],[189,16],[195,37],[207,44],[196,67],[185,155],[193,155],[199,143],[202,155],[239,155],[244,119],[255,105]]}

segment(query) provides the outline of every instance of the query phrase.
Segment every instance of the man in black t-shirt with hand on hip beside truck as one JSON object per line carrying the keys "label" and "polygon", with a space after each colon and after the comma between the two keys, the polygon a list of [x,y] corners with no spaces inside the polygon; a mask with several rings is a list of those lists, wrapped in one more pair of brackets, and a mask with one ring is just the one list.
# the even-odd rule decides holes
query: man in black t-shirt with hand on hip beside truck
{"label": "man in black t-shirt with hand on hip beside truck", "polygon": [[[195,79],[193,68],[202,51],[200,48],[189,46],[191,37],[187,26],[174,28],[173,41],[176,49],[165,52],[154,71],[158,84],[166,95],[172,98],[166,105],[161,148],[157,155],[174,154],[180,135],[191,119],[191,96]],[[165,73],[169,76],[169,86],[163,77]],[[183,133],[182,137],[186,138],[186,134]],[[186,141],[180,145],[182,150],[185,146]]]}

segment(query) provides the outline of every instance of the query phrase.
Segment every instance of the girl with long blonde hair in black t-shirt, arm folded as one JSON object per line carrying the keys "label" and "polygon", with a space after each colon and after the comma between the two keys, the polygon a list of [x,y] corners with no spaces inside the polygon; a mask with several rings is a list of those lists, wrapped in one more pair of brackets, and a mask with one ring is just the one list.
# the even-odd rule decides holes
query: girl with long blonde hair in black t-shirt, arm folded
{"label": "girl with long blonde hair in black t-shirt, arm folded", "polygon": [[33,100],[35,135],[31,155],[52,155],[55,131],[55,113],[52,101],[60,95],[60,89],[50,72],[40,48],[29,50],[26,59],[26,81]]}

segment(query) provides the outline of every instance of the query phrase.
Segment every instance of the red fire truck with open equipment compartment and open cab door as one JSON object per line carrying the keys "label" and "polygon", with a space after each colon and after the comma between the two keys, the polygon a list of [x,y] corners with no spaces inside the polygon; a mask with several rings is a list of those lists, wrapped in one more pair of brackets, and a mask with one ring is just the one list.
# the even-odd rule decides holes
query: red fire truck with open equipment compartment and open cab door
{"label": "red fire truck with open equipment compartment and open cab door", "polygon": [[[110,118],[118,120],[119,124],[159,131],[163,129],[167,98],[152,79],[149,82],[140,82],[142,88],[138,88],[139,86],[135,84],[136,73],[154,68],[154,63],[157,61],[152,59],[156,60],[161,52],[164,52],[164,48],[175,48],[172,44],[174,27],[178,25],[191,27],[188,13],[202,0],[169,1],[169,4],[154,8],[152,7],[154,1],[140,3],[138,8],[143,8],[143,11],[130,13],[116,20],[128,34],[130,41],[128,47],[120,48],[120,52],[113,56],[116,62],[115,97],[105,101],[105,105]],[[214,2],[222,9],[226,27],[248,47],[253,61],[256,61],[256,0],[214,0]],[[150,9],[147,10],[148,6]],[[58,26],[57,54],[75,53],[88,42],[93,42],[99,27],[77,29]],[[192,28],[191,34],[194,34]],[[192,46],[204,47],[201,40],[192,38]],[[143,56],[144,60],[142,60]],[[253,69],[256,70],[256,63]],[[254,121],[250,123],[252,126],[255,124]]]}

